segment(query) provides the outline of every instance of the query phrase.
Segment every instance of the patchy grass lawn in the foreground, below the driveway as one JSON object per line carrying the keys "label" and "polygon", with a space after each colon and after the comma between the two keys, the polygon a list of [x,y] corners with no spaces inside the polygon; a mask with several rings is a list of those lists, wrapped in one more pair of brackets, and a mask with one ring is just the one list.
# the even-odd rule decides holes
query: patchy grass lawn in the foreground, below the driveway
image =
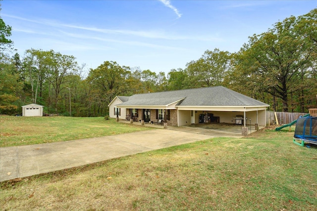
{"label": "patchy grass lawn in the foreground, below the driveway", "polygon": [[302,210],[317,207],[317,147],[293,132],[211,138],[0,183],[2,210]]}

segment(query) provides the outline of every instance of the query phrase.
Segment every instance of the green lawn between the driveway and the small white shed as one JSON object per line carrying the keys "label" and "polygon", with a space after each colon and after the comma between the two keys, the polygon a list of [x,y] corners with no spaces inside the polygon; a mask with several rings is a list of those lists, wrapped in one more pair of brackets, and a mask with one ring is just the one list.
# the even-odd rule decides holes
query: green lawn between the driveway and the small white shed
{"label": "green lawn between the driveway and the small white shed", "polygon": [[103,117],[0,116],[0,147],[51,143],[151,129]]}

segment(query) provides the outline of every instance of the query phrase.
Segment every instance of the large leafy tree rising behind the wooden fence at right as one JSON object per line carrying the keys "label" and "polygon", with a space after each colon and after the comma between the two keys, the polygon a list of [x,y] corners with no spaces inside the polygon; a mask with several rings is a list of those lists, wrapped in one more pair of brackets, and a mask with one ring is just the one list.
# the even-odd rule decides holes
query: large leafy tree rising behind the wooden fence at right
{"label": "large leafy tree rising behind the wooden fence at right", "polygon": [[250,37],[236,56],[239,77],[234,78],[235,83],[245,84],[256,93],[268,93],[273,101],[280,99],[282,110],[289,111],[289,97],[307,88],[303,82],[316,69],[316,28],[305,30],[316,26],[316,21],[315,9],[298,18],[286,18],[275,23],[273,29]]}

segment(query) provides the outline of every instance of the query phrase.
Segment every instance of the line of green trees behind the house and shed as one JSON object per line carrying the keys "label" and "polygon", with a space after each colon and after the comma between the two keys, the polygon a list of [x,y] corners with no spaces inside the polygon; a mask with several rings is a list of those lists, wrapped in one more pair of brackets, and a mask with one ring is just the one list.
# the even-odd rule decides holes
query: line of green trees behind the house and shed
{"label": "line of green trees behind the house and shed", "polygon": [[166,75],[105,61],[84,77],[85,64],[54,50],[10,56],[5,52],[13,51],[11,29],[0,18],[0,114],[21,114],[21,106],[36,103],[47,114],[105,116],[116,95],[216,85],[263,101],[272,111],[317,107],[317,9],[250,36],[238,52],[206,50]]}

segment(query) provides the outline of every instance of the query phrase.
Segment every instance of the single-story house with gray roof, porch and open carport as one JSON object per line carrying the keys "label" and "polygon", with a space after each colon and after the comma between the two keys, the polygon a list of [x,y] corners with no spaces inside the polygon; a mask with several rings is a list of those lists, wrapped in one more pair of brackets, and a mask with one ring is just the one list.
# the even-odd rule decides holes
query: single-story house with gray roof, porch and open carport
{"label": "single-story house with gray roof, porch and open carport", "polygon": [[109,103],[111,118],[164,122],[180,127],[199,123],[232,123],[265,127],[269,106],[224,86],[116,96]]}

